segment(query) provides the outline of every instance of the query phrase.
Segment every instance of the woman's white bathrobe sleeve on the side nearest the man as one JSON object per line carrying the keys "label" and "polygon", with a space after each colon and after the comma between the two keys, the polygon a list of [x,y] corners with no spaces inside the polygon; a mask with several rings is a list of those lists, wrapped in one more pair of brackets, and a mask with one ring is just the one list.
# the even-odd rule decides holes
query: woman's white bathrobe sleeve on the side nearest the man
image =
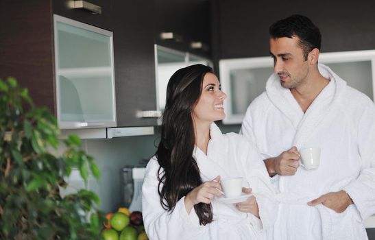
{"label": "woman's white bathrobe sleeve on the side nearest the man", "polygon": [[[239,154],[247,153],[242,163],[245,169],[245,176],[258,203],[261,225],[263,229],[271,228],[278,214],[276,193],[271,185],[271,178],[269,178],[258,149],[254,143],[247,141],[243,137],[242,139],[242,144],[240,145],[243,145],[243,149],[239,149],[237,152]],[[256,222],[253,224],[257,225]]]}

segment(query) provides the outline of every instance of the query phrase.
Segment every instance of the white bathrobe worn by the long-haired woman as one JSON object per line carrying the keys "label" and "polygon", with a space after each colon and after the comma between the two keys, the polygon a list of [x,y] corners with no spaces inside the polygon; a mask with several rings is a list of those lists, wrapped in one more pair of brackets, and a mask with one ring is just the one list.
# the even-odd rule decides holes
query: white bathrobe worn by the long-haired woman
{"label": "white bathrobe worn by the long-haired woman", "polygon": [[235,204],[223,204],[214,199],[213,222],[199,225],[194,208],[188,215],[184,197],[172,212],[165,211],[158,195],[158,161],[152,158],[146,169],[142,188],[142,209],[149,239],[262,239],[263,229],[274,224],[277,202],[261,155],[254,145],[239,134],[221,134],[215,123],[210,127],[207,155],[195,147],[194,157],[203,182],[242,176],[243,187],[252,187],[258,202],[261,221],[252,214],[241,213]]}

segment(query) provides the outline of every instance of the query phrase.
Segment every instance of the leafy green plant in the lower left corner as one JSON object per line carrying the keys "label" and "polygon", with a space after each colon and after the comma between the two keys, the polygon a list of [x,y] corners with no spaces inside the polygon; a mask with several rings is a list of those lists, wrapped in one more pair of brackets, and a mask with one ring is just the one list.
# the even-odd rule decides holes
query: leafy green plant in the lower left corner
{"label": "leafy green plant in the lower left corner", "polygon": [[[72,167],[99,178],[93,158],[71,135],[58,149],[56,119],[36,108],[14,78],[0,80],[0,239],[99,239],[99,198],[85,189],[62,197]],[[90,214],[90,217],[88,217]]]}

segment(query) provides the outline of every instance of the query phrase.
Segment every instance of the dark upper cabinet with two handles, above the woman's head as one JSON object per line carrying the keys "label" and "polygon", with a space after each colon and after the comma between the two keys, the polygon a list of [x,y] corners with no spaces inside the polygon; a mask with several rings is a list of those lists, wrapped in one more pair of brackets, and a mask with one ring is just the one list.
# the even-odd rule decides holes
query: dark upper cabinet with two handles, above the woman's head
{"label": "dark upper cabinet with two handles, above the woman's head", "polygon": [[210,1],[154,0],[157,45],[210,58]]}

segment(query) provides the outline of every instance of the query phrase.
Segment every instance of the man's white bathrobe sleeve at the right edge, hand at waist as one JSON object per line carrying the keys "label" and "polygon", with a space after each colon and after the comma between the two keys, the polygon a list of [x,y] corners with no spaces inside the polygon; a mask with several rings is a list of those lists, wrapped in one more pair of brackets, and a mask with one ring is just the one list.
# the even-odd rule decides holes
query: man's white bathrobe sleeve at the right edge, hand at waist
{"label": "man's white bathrobe sleeve at the right edge, hand at waist", "polygon": [[343,190],[350,195],[362,219],[365,220],[375,213],[375,106],[373,102],[367,104],[358,124],[361,172],[359,177]]}

